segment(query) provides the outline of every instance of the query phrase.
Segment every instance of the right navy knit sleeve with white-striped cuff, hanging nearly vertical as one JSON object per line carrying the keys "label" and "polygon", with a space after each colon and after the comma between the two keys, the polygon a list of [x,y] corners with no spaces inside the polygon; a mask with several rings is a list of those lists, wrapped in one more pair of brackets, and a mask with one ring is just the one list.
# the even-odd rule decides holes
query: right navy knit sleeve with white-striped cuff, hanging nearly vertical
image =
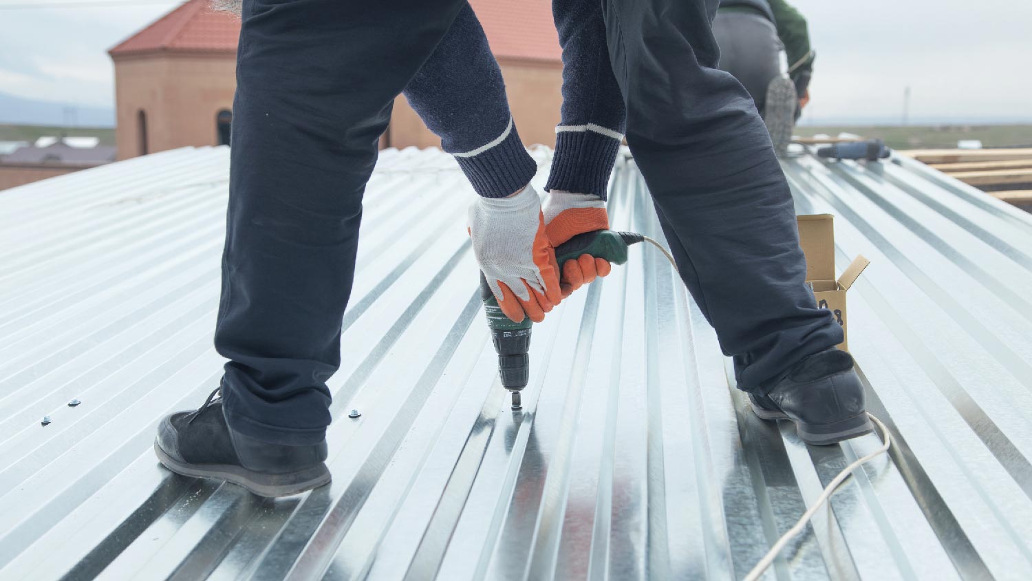
{"label": "right navy knit sleeve with white-striped cuff, hanging nearly vertical", "polygon": [[562,117],[546,190],[605,200],[626,112],[606,51],[601,0],[553,0],[562,46]]}

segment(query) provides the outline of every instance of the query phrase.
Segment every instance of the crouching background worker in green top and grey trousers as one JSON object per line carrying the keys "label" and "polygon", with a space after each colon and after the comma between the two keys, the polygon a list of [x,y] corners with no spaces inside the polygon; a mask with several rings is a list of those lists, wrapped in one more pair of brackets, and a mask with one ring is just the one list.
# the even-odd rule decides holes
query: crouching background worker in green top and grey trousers
{"label": "crouching background worker in green top and grey trousers", "polygon": [[[720,0],[713,20],[718,66],[745,86],[777,154],[783,155],[803,107],[810,101],[814,52],[806,19],[785,0]],[[781,50],[788,62],[781,71]]]}

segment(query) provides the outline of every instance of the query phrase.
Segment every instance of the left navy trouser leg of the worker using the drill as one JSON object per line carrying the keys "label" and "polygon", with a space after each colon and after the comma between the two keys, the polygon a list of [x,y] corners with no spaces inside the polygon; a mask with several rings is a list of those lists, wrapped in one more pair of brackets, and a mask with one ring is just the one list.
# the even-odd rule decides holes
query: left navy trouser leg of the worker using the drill
{"label": "left navy trouser leg of the worker using the drill", "polygon": [[463,0],[245,0],[215,343],[230,427],[322,442],[365,182]]}

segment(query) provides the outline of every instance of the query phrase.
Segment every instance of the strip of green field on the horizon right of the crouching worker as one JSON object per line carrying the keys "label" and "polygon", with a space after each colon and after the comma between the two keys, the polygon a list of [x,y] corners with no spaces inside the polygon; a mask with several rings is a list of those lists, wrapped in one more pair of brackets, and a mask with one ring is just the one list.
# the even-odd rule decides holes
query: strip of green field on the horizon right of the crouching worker
{"label": "strip of green field on the horizon right of the crouching worker", "polygon": [[818,133],[856,133],[878,137],[897,150],[956,148],[961,139],[980,139],[983,148],[1032,147],[1032,125],[940,125],[940,126],[800,126],[796,134],[809,137]]}

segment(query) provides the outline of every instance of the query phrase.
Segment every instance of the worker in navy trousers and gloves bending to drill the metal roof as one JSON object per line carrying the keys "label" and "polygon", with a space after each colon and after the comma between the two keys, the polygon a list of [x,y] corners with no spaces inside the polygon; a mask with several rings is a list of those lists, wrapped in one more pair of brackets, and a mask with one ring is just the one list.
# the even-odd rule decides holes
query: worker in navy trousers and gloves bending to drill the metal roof
{"label": "worker in navy trousers and gloves bending to drill the metal roof", "polygon": [[[245,0],[215,336],[229,361],[200,409],[161,422],[156,451],[173,472],[270,496],[329,481],[326,381],[340,365],[377,141],[392,100],[447,45],[466,7]],[[543,212],[525,187],[492,197],[507,188],[477,187],[478,173],[463,167],[480,194],[469,223],[477,261],[495,295],[522,311],[507,314],[538,320],[561,299],[556,279],[567,293],[587,282],[566,264],[555,276],[554,247],[608,227],[600,185],[625,128],[681,277],[757,415],[792,419],[820,444],[869,431],[852,359],[834,349],[842,329],[805,284],[792,197],[763,122],[742,86],[715,68],[716,2],[553,8],[565,101],[548,204]],[[453,153],[511,167],[492,150],[514,131],[507,122],[490,141]],[[484,175],[498,181],[503,169]]]}

